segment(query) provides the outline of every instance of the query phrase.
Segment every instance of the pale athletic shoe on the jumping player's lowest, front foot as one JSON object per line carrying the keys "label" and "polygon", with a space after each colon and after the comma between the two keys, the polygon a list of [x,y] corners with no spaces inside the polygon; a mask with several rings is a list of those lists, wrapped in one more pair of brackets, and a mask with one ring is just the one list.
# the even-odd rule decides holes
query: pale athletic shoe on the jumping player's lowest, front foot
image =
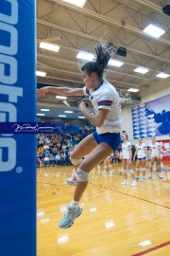
{"label": "pale athletic shoe on the jumping player's lowest, front foot", "polygon": [[75,219],[82,213],[82,207],[71,208],[68,206],[63,218],[59,222],[60,229],[68,229],[74,225]]}

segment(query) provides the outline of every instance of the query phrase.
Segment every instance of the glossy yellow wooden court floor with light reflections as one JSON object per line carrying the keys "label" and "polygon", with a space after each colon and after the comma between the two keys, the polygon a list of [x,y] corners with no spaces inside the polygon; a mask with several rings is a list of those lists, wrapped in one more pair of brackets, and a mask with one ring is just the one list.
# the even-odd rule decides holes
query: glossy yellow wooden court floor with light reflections
{"label": "glossy yellow wooden court floor with light reflections", "polygon": [[112,166],[113,174],[102,175],[103,165],[96,168],[81,200],[83,213],[70,229],[58,224],[75,190],[65,182],[73,167],[39,168],[38,256],[170,255],[170,163],[166,166],[162,180],[154,172],[134,188],[129,174],[129,185],[121,185],[120,164]]}

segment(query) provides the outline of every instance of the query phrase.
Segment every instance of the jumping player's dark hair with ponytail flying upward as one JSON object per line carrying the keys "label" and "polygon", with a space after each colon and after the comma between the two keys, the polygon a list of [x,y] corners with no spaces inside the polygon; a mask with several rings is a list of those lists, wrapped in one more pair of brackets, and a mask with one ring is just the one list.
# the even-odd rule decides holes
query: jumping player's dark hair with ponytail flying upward
{"label": "jumping player's dark hair with ponytail flying upward", "polygon": [[94,46],[94,49],[96,52],[95,61],[84,64],[81,67],[81,71],[87,72],[89,76],[92,73],[96,73],[99,79],[102,80],[104,71],[114,53],[115,47],[111,43],[103,44],[101,41],[99,41],[97,46]]}

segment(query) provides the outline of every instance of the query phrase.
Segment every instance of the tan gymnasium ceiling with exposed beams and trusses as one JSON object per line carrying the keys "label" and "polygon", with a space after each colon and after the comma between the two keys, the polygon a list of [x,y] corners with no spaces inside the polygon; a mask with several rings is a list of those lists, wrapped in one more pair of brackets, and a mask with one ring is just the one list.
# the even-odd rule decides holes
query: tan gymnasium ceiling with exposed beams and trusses
{"label": "tan gymnasium ceiling with exposed beams and trusses", "polygon": [[[127,49],[127,57],[114,56],[124,64],[110,66],[107,73],[107,80],[123,97],[128,88],[140,89],[161,80],[156,75],[170,74],[170,16],[162,12],[167,4],[170,2],[163,0],[87,0],[84,8],[77,8],[62,0],[37,0],[37,70],[46,72],[45,77],[37,77],[38,87],[82,87],[76,55],[79,51],[94,53],[93,46],[101,37],[114,43],[116,50]],[[161,27],[165,33],[159,39],[145,34],[143,29],[149,24]],[[59,52],[40,48],[41,42],[58,45]],[[147,67],[149,72],[134,72],[138,66]],[[140,97],[140,91],[131,93],[127,103],[138,102],[136,97]],[[76,106],[81,98],[70,97],[68,101]],[[65,107],[54,94],[38,98],[38,113],[44,113],[41,108],[50,108],[45,117],[58,118]],[[71,114],[70,118],[77,116]]]}

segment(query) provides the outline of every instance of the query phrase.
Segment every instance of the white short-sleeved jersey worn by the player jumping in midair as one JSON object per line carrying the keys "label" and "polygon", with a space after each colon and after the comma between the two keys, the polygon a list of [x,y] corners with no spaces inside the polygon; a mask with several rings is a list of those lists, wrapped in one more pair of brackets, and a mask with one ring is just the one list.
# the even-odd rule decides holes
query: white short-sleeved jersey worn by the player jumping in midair
{"label": "white short-sleeved jersey worn by the player jumping in midair", "polygon": [[83,92],[89,96],[95,113],[98,109],[109,109],[104,124],[101,127],[96,127],[97,134],[120,133],[122,130],[122,111],[119,95],[114,86],[104,80],[97,89],[88,90],[85,86]]}

